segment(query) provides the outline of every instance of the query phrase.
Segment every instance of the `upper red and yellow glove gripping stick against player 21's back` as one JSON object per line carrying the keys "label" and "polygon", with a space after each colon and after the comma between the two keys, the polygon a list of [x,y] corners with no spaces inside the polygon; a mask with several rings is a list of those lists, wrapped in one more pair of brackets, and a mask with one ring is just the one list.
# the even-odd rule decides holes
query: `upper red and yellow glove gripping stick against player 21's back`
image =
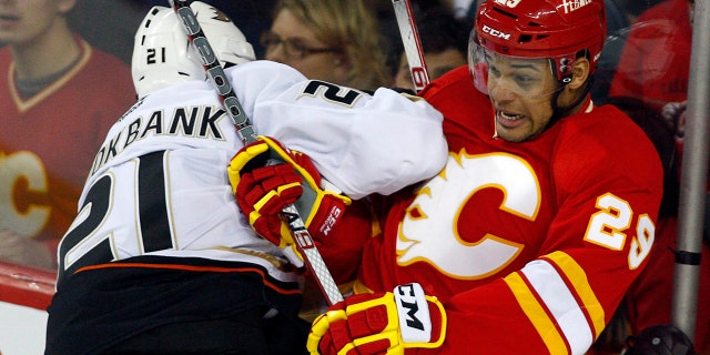
{"label": "upper red and yellow glove gripping stick against player 21's back", "polygon": [[313,239],[323,240],[351,203],[351,199],[322,187],[333,185],[321,178],[308,156],[268,136],[258,136],[256,142],[242,148],[232,158],[227,174],[236,203],[250,225],[283,248],[296,267],[303,266],[303,256],[281,211],[295,203]]}

